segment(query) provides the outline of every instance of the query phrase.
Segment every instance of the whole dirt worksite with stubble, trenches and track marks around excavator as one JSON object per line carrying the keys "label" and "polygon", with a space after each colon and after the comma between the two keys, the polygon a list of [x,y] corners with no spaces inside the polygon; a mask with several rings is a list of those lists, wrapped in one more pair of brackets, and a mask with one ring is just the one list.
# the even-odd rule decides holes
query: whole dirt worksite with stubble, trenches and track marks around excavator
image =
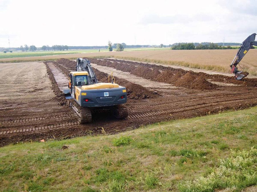
{"label": "whole dirt worksite with stubble, trenches and track marks around excavator", "polygon": [[128,91],[127,119],[117,120],[107,112],[95,112],[92,123],[78,124],[77,116],[65,105],[59,90],[65,87],[66,75],[74,70],[75,61],[0,64],[2,76],[13,74],[6,81],[8,94],[2,92],[0,98],[1,146],[20,141],[102,134],[103,129],[113,134],[149,123],[257,104],[257,79],[236,81],[232,77],[160,65],[90,60],[98,69],[95,73],[101,82],[107,81],[108,70],[118,70],[116,82],[126,86]]}

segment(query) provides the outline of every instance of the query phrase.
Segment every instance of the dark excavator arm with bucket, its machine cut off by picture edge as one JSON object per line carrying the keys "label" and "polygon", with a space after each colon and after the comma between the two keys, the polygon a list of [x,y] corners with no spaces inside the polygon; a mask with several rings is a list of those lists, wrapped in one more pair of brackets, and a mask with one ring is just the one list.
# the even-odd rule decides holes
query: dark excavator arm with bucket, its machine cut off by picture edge
{"label": "dark excavator arm with bucket, its machine cut off by picture edge", "polygon": [[[239,62],[242,60],[244,55],[251,49],[251,47],[257,46],[257,41],[255,41],[255,36],[256,33],[251,34],[246,40],[244,40],[240,46],[240,48],[237,51],[237,54],[232,61],[230,68],[231,68],[231,73],[235,74],[235,79],[240,80],[244,77],[246,77],[249,73],[244,73],[243,71],[239,71],[238,68],[236,67]],[[240,66],[240,65],[239,65]]]}

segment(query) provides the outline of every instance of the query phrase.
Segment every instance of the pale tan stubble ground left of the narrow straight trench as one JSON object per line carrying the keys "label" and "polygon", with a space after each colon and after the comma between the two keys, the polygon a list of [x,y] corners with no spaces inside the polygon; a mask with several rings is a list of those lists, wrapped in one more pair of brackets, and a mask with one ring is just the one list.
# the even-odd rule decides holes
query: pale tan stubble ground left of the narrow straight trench
{"label": "pale tan stubble ground left of the narrow straight trench", "polygon": [[[49,103],[54,106],[52,99],[55,94],[43,63],[0,63],[0,75],[3,78],[0,92],[0,113],[3,110],[42,111]],[[31,103],[37,107],[31,108]],[[51,105],[49,105],[51,108]]]}

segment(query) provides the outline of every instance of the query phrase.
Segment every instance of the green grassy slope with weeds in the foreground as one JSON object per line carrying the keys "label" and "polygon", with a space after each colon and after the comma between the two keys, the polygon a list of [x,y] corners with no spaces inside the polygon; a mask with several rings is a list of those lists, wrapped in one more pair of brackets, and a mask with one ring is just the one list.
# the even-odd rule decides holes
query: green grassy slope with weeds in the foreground
{"label": "green grassy slope with weeds in the foreground", "polygon": [[253,107],[12,144],[0,148],[0,191],[241,191],[257,183],[256,127]]}

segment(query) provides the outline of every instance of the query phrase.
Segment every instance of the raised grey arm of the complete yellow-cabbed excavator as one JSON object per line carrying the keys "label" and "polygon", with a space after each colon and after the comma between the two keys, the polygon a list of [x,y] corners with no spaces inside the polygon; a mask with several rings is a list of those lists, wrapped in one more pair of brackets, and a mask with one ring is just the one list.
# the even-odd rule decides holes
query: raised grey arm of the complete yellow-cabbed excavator
{"label": "raised grey arm of the complete yellow-cabbed excavator", "polygon": [[89,85],[93,85],[98,83],[95,72],[90,64],[90,61],[87,59],[78,58],[77,64],[75,67],[75,71],[87,71],[88,72],[88,80]]}

